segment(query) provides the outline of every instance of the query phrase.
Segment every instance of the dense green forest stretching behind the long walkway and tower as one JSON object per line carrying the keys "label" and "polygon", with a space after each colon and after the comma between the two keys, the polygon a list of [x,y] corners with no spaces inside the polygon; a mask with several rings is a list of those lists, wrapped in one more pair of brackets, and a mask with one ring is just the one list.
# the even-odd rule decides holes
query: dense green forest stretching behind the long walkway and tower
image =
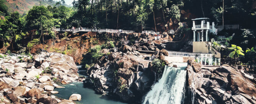
{"label": "dense green forest stretching behind the long walkway and tower", "polygon": [[[61,0],[54,6],[33,6],[28,13],[9,13],[0,0],[0,48],[8,51],[41,44],[44,38],[54,38],[52,28],[110,28],[141,32],[167,32],[181,28],[185,22],[191,28],[194,18],[210,18],[216,25],[239,24],[241,30],[221,31],[229,38],[215,38],[220,46],[241,46],[245,51],[255,46],[256,2],[254,0],[74,0],[72,7]],[[174,25],[178,24],[178,25]],[[40,41],[39,41],[40,40]],[[228,43],[227,43],[228,42]],[[26,43],[26,44],[24,44]]]}

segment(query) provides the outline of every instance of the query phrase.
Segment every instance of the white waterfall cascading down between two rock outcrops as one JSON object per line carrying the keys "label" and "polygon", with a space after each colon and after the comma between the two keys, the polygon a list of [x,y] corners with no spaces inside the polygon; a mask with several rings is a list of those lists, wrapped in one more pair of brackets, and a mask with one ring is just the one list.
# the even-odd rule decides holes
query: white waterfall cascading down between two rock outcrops
{"label": "white waterfall cascading down between two rock outcrops", "polygon": [[162,78],[152,86],[143,104],[181,104],[184,96],[187,63],[174,63],[178,68],[165,66]]}

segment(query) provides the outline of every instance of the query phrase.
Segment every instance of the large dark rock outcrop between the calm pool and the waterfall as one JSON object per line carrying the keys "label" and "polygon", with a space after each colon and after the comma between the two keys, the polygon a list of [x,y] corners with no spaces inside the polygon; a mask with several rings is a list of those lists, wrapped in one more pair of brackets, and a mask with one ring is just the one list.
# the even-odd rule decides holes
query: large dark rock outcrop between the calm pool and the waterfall
{"label": "large dark rock outcrop between the calm pool and the waterfall", "polygon": [[151,61],[126,45],[109,52],[88,69],[85,82],[103,95],[113,93],[126,102],[140,100],[155,81],[155,72],[147,69]]}

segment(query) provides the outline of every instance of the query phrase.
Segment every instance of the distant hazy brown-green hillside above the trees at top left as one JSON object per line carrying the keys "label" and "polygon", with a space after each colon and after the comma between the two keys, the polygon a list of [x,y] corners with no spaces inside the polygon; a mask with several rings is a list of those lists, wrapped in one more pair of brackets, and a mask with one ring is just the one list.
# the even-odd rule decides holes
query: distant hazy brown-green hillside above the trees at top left
{"label": "distant hazy brown-green hillside above the trees at top left", "polygon": [[[8,7],[8,12],[18,11],[20,14],[27,13],[34,5],[53,6],[56,2],[53,0],[2,0],[3,3]],[[65,6],[68,6],[64,4]],[[68,6],[70,7],[70,6]]]}

